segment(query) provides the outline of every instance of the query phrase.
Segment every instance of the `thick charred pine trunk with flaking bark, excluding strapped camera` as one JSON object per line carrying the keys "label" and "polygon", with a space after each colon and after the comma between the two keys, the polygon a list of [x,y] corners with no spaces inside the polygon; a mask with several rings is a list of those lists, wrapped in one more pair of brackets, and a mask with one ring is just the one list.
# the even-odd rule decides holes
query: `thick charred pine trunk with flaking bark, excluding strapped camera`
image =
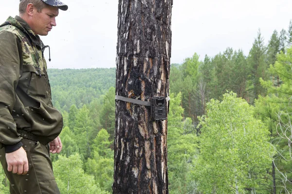
{"label": "thick charred pine trunk with flaking bark, excluding strapped camera", "polygon": [[[119,0],[116,95],[169,96],[172,0]],[[116,100],[113,194],[168,194],[167,120]]]}

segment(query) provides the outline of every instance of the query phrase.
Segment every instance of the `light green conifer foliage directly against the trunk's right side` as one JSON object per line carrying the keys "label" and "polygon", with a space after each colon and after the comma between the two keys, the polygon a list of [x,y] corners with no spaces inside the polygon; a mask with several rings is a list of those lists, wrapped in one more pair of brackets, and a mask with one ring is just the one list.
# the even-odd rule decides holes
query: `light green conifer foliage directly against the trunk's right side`
{"label": "light green conifer foliage directly against the trunk's right side", "polygon": [[168,114],[168,172],[170,194],[188,191],[191,180],[191,161],[197,153],[197,136],[190,118],[183,121],[182,95],[170,95]]}

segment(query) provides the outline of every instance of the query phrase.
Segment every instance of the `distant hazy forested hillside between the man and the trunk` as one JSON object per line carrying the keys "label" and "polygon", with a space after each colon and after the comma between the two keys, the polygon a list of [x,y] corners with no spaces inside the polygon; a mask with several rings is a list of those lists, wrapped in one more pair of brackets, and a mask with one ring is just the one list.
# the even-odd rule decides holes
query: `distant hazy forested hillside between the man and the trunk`
{"label": "distant hazy forested hillside between the man and the trunk", "polygon": [[115,85],[115,68],[49,69],[48,73],[54,106],[67,112],[73,104],[81,108]]}

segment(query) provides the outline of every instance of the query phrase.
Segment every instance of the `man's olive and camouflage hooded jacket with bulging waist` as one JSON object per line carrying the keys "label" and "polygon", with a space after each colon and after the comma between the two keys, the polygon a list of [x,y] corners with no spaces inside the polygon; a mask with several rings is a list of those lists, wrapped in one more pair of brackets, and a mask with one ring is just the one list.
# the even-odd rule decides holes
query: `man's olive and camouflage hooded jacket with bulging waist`
{"label": "man's olive and camouflage hooded jacket with bulging waist", "polygon": [[22,146],[22,136],[42,144],[55,139],[63,118],[52,104],[44,45],[19,16],[0,27],[0,147]]}

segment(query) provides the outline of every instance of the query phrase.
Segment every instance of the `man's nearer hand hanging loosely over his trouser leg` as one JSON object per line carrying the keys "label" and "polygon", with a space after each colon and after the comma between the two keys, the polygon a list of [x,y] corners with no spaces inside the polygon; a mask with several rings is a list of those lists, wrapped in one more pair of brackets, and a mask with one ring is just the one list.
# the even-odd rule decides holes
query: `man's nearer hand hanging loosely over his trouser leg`
{"label": "man's nearer hand hanging loosely over his trouser leg", "polygon": [[23,147],[18,150],[5,154],[7,162],[7,170],[13,174],[25,175],[28,172],[27,155]]}

